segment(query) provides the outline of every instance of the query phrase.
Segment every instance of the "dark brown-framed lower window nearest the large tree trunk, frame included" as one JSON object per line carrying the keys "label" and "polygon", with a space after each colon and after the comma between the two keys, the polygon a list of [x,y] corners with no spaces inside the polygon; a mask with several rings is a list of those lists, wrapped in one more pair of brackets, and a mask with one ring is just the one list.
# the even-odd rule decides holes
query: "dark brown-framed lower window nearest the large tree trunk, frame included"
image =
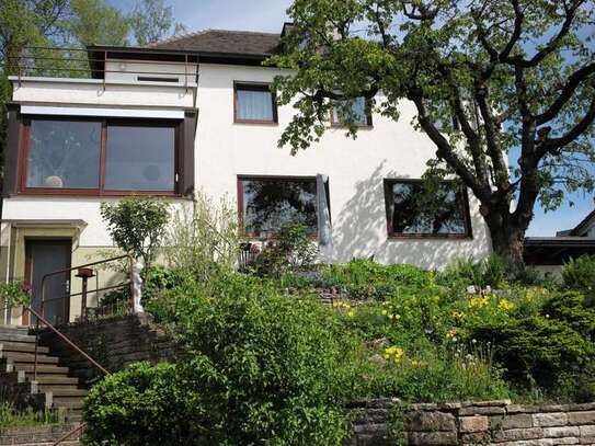
{"label": "dark brown-framed lower window nearest the large tree trunk, frame included", "polygon": [[469,238],[471,225],[467,191],[445,181],[434,193],[435,206],[426,206],[420,196],[420,180],[386,180],[388,233],[390,237]]}

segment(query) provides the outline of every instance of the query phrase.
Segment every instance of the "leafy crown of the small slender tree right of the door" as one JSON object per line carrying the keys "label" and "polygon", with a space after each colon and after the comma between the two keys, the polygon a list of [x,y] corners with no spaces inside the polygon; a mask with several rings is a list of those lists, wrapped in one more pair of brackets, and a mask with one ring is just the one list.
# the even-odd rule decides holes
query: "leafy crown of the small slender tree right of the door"
{"label": "leafy crown of the small slender tree right of the door", "polygon": [[129,197],[102,203],[101,216],[116,245],[134,259],[142,259],[149,267],[165,233],[168,204],[155,198]]}

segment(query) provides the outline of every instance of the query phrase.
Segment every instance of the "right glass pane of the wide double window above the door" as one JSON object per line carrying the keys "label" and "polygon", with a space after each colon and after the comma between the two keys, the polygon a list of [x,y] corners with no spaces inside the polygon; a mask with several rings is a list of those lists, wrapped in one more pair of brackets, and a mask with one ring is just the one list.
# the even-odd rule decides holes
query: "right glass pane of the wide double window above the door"
{"label": "right glass pane of the wide double window above the door", "polygon": [[105,188],[173,191],[173,127],[107,126]]}

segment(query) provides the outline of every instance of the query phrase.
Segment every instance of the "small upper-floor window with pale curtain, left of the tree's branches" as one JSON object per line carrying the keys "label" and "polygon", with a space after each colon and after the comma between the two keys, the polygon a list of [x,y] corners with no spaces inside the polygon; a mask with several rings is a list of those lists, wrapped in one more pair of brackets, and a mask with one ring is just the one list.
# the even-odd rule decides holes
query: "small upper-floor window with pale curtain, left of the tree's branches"
{"label": "small upper-floor window with pale curtain, left of the tree's branches", "polygon": [[233,88],[236,123],[277,123],[277,104],[268,84],[234,83]]}

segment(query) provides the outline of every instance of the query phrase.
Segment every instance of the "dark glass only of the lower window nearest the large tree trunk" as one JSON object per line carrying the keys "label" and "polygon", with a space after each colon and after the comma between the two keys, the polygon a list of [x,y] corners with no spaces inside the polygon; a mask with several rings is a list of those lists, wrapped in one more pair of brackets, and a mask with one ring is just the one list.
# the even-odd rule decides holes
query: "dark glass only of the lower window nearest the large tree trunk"
{"label": "dark glass only of the lower window nearest the large tree trunk", "polygon": [[465,195],[445,183],[427,205],[420,197],[422,183],[393,183],[389,203],[394,233],[466,235]]}

